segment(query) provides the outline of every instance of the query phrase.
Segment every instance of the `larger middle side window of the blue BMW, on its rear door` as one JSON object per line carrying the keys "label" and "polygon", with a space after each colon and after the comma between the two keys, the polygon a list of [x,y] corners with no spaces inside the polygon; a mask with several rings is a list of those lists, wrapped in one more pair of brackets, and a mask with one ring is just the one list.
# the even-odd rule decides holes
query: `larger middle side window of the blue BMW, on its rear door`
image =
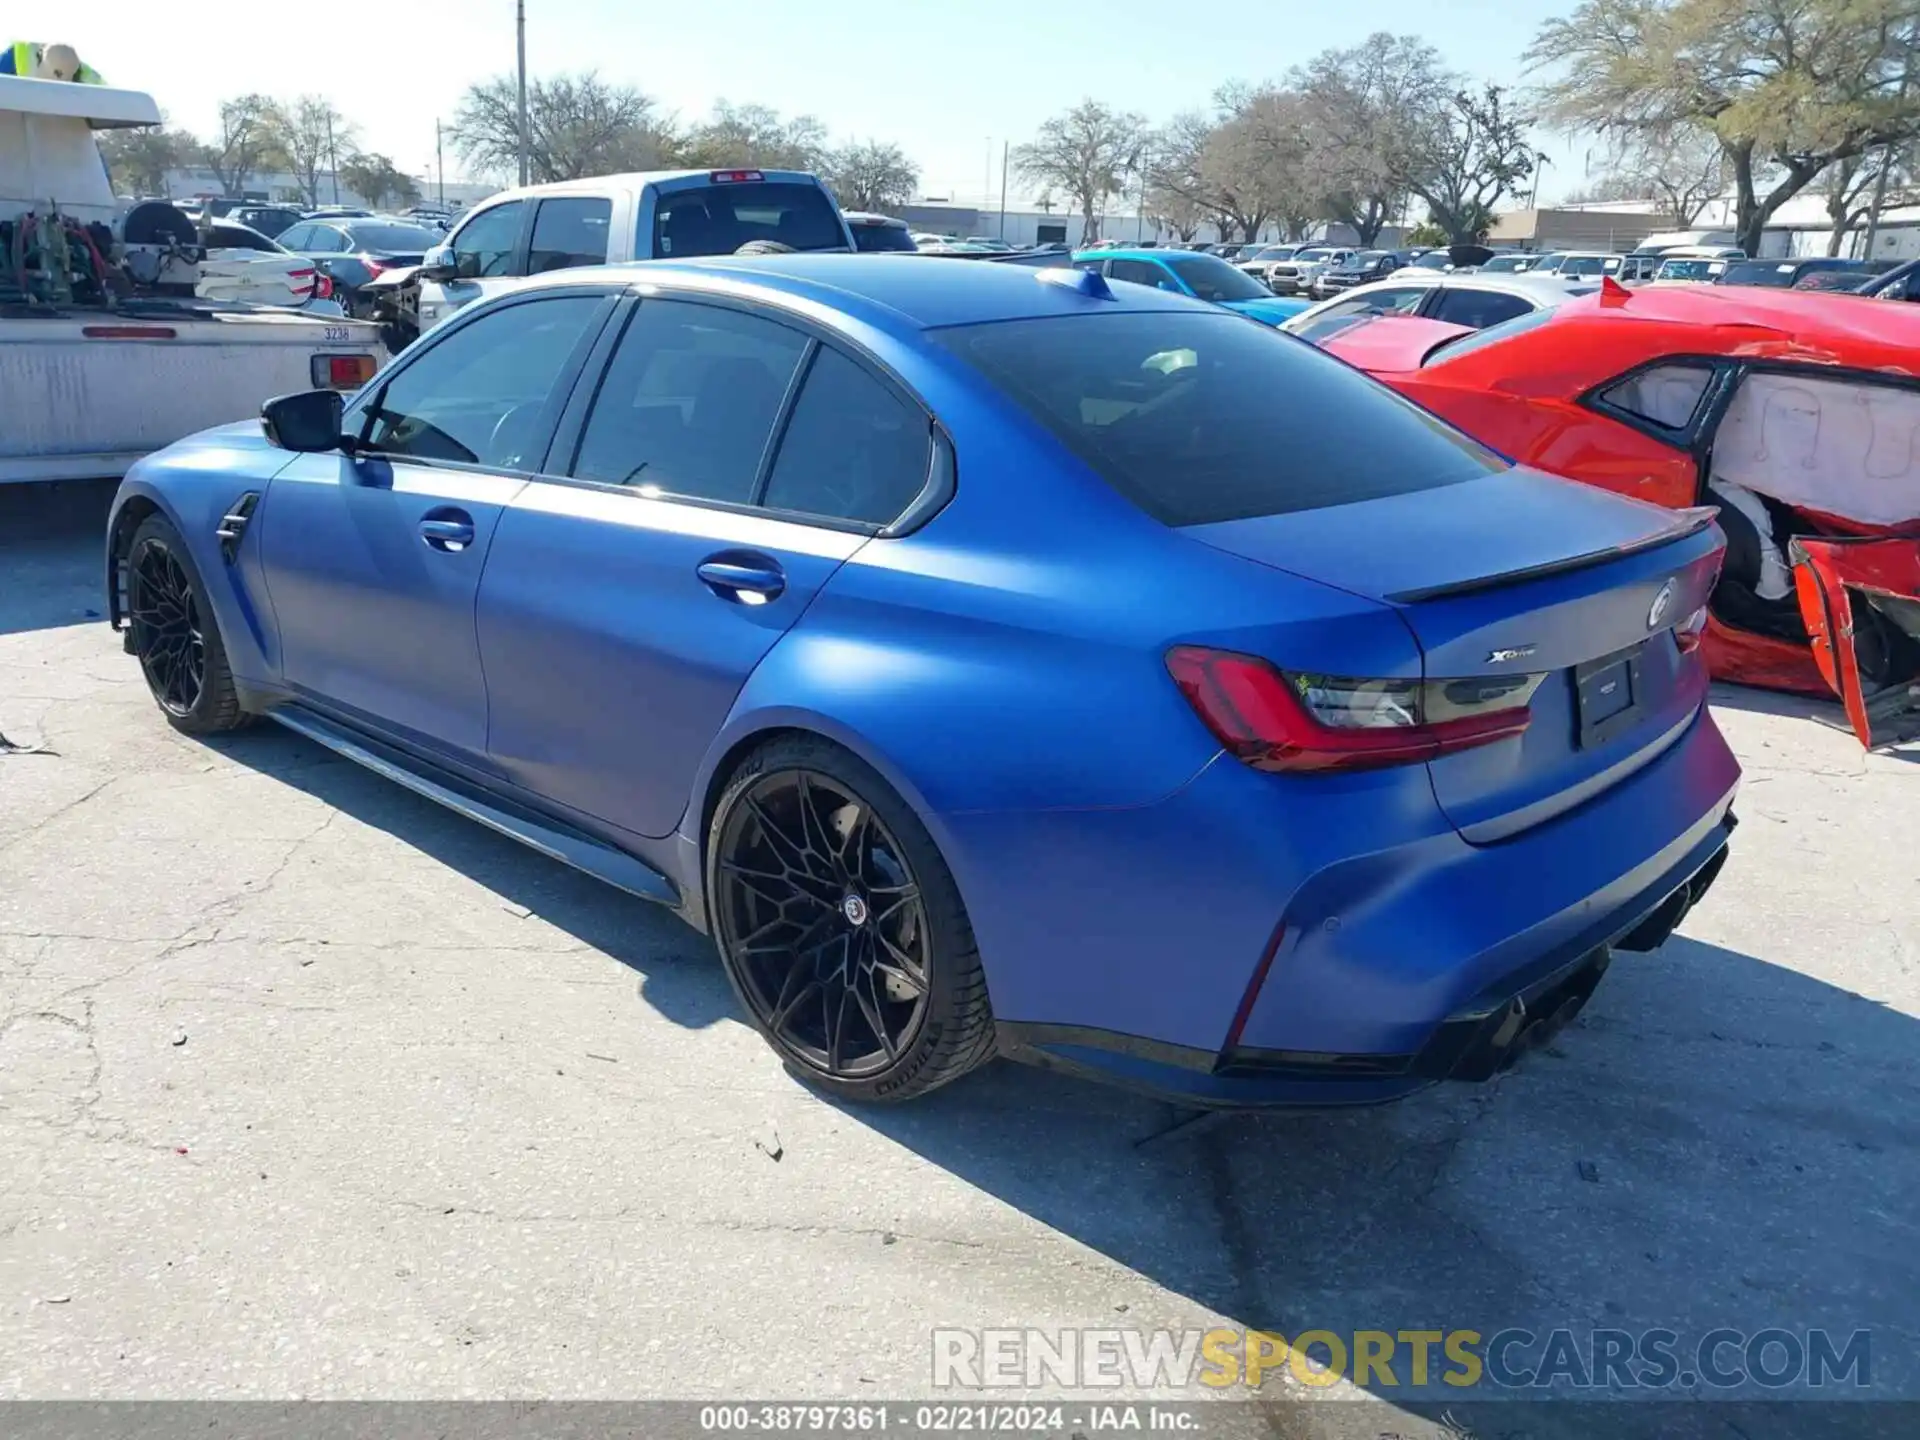
{"label": "larger middle side window of the blue BMW, on its rear door", "polygon": [[747,505],[806,336],[718,305],[647,300],[612,353],[572,474]]}

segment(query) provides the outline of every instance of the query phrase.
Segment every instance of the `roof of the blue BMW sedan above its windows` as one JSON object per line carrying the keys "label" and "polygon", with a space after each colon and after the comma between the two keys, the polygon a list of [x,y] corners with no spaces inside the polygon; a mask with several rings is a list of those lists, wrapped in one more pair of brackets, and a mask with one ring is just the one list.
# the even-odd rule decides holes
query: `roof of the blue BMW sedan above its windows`
{"label": "roof of the blue BMW sedan above its windows", "polygon": [[1096,300],[1041,278],[1058,273],[1062,267],[950,265],[908,255],[712,255],[553,271],[538,282],[515,286],[515,294],[609,280],[632,286],[659,282],[772,303],[820,305],[893,332],[1112,311],[1221,313],[1215,305],[1152,286],[1116,286],[1110,298]]}

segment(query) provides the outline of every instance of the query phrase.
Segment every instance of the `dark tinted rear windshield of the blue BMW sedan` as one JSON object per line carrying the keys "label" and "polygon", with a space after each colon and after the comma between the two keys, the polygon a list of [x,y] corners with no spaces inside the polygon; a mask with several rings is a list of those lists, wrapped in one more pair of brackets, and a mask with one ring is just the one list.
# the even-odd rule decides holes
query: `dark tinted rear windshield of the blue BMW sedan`
{"label": "dark tinted rear windshield of the blue BMW sedan", "polygon": [[1169,526],[1350,505],[1505,468],[1359,371],[1235,315],[1119,311],[931,334]]}

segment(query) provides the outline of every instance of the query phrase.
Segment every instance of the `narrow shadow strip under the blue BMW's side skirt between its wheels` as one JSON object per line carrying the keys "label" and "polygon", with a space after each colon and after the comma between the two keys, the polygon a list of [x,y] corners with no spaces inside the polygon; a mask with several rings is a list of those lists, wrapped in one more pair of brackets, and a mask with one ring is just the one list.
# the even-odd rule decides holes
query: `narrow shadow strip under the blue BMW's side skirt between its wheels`
{"label": "narrow shadow strip under the blue BMW's side skirt between its wheels", "polygon": [[705,935],[659,904],[549,860],[275,724],[205,741],[372,829],[386,831],[641,977],[662,1018],[705,1029],[735,1014]]}

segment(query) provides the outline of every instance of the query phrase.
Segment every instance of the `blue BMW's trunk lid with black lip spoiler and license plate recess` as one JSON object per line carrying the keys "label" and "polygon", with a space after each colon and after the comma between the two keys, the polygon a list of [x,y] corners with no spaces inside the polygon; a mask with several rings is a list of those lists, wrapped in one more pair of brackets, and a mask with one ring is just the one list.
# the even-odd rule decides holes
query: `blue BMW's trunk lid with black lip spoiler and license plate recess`
{"label": "blue BMW's trunk lid with black lip spoiler and license plate recess", "polygon": [[1678,739],[1705,695],[1674,626],[1701,612],[1718,574],[1709,513],[1515,468],[1185,534],[1392,605],[1428,682],[1544,676],[1523,735],[1428,764],[1440,806],[1476,843],[1624,780]]}

